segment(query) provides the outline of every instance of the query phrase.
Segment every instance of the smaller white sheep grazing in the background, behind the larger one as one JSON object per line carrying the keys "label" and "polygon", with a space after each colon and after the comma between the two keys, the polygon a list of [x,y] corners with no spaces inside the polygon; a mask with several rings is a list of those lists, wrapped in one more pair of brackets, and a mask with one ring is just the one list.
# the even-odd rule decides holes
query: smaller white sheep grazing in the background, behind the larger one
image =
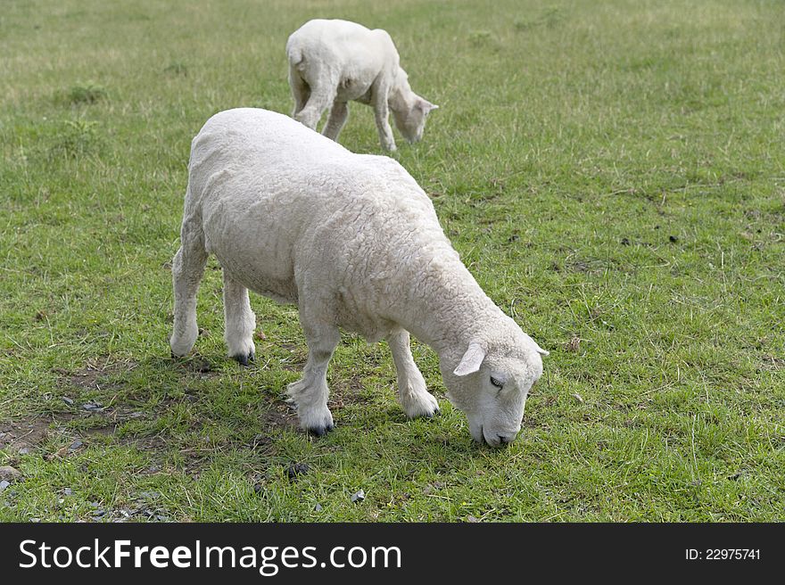
{"label": "smaller white sheep grazing in the background, behind the larger one", "polygon": [[292,117],[316,129],[331,107],[322,134],[338,141],[349,116],[347,102],[370,104],[382,147],[396,150],[388,109],[409,143],[423,136],[426,117],[439,106],[415,94],[399,65],[392,38],[382,29],[369,30],[350,21],[313,20],[295,30],[286,43]]}

